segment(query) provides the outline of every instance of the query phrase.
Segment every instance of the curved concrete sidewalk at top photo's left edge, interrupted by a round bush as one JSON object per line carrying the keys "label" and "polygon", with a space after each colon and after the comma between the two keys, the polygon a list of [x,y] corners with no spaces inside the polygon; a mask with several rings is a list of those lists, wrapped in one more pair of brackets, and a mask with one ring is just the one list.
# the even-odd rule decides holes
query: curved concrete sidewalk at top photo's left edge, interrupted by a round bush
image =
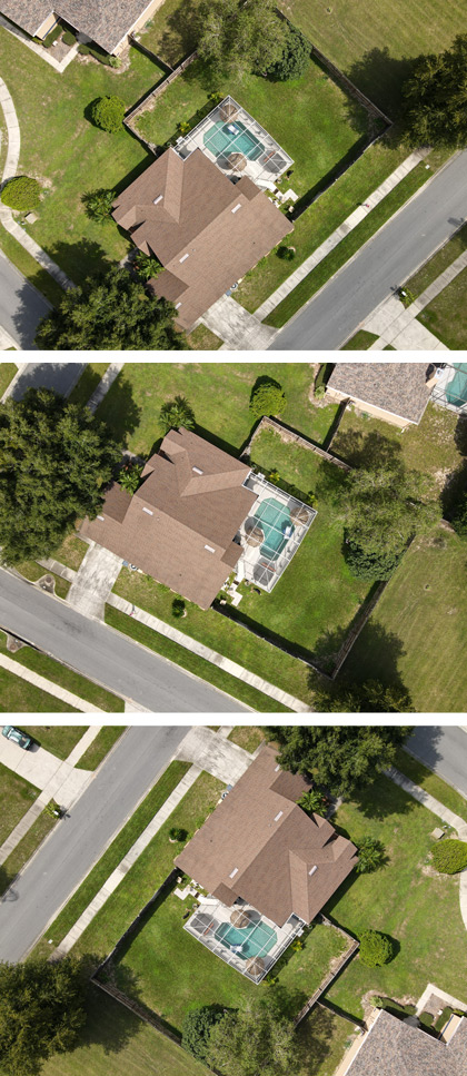
{"label": "curved concrete sidewalk at top photo's left edge, interrupted by a round bush", "polygon": [[[12,179],[18,174],[21,137],[18,116],[16,113],[12,98],[10,97],[8,88],[1,78],[0,105],[3,110],[8,137],[7,160],[2,175],[2,184],[4,184],[7,179]],[[57,284],[60,285],[60,287],[74,287],[72,282],[67,277],[66,273],[63,273],[62,269],[59,269],[58,265],[56,265],[52,258],[49,258],[49,255],[42,250],[39,244],[37,244],[34,239],[31,239],[31,236],[29,236],[28,233],[24,231],[19,224],[17,224],[11,209],[9,209],[8,206],[3,206],[2,203],[0,203],[0,224],[2,224],[3,228],[9,231],[9,234],[13,236],[18,243],[21,244],[24,250],[28,250],[28,254],[30,254],[31,257],[42,266],[42,268],[47,269],[50,276],[52,276],[53,279],[57,280]]]}

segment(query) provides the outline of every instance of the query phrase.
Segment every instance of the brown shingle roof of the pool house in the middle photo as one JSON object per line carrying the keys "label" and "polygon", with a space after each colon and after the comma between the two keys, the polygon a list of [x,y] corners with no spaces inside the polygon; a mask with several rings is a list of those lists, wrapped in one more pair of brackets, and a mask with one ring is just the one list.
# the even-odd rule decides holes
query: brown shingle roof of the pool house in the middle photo
{"label": "brown shingle roof of the pool house in the middle photo", "polygon": [[208,609],[241,555],[234,542],[256,495],[249,467],[188,430],[171,430],[135,496],[113,483],[81,533]]}

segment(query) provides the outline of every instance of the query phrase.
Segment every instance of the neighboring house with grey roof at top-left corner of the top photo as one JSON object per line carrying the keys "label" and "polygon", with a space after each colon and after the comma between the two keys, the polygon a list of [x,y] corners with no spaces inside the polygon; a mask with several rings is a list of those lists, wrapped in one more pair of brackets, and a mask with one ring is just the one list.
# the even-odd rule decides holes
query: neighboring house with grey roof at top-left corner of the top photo
{"label": "neighboring house with grey roof at top-left corner of the top photo", "polygon": [[128,36],[145,26],[162,0],[0,0],[0,11],[43,40],[60,20],[117,56]]}

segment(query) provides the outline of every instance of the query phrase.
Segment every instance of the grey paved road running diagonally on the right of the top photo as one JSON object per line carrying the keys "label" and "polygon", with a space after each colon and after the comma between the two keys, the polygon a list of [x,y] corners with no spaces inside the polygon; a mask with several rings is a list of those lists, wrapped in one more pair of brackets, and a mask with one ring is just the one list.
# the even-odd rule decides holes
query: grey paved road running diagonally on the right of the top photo
{"label": "grey paved road running diagonally on the right of the top photo", "polygon": [[467,218],[459,154],[278,333],[274,351],[334,351]]}

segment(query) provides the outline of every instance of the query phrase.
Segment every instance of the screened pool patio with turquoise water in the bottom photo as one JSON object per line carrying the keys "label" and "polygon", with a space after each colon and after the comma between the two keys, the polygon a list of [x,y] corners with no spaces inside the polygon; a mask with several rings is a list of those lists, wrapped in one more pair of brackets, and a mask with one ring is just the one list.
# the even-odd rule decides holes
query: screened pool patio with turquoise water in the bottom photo
{"label": "screened pool patio with turquoise water in the bottom photo", "polygon": [[278,927],[244,900],[237,900],[231,908],[210,896],[200,895],[198,900],[200,907],[183,929],[251,983],[261,983],[294,938],[304,931],[305,924],[295,915]]}

